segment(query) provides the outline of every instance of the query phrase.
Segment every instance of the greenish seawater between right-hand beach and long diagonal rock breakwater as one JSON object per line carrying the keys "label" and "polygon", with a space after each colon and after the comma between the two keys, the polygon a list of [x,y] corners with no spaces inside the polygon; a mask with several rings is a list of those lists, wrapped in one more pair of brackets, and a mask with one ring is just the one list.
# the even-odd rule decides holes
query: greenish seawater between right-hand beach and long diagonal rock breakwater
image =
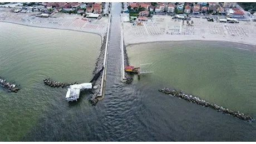
{"label": "greenish seawater between right-hand beach and long diagonal rock breakwater", "polygon": [[[154,71],[141,85],[164,85],[206,101],[256,113],[256,53],[252,47],[225,42],[162,42],[127,47],[130,65]],[[135,78],[136,80],[136,78]]]}

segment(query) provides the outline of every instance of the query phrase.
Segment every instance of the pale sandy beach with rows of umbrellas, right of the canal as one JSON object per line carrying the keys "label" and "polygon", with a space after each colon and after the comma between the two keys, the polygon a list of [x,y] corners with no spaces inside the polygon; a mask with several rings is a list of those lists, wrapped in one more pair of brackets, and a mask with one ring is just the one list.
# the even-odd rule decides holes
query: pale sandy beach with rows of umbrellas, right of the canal
{"label": "pale sandy beach with rows of umbrellas, right of the canal", "polygon": [[[127,19],[123,14],[122,19]],[[219,23],[208,22],[205,18],[192,18],[194,26],[171,16],[155,15],[142,25],[123,22],[125,45],[183,40],[209,40],[243,43],[256,46],[256,23]],[[190,20],[190,23],[191,23]]]}

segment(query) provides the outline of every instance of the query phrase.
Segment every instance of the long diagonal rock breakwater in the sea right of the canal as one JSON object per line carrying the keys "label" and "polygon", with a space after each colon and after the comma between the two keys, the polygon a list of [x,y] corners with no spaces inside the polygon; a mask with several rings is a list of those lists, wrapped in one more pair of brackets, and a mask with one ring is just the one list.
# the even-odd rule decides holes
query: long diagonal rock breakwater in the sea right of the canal
{"label": "long diagonal rock breakwater in the sea right of the canal", "polygon": [[174,89],[168,89],[168,88],[159,89],[159,91],[163,92],[164,94],[168,94],[170,96],[179,97],[180,99],[184,99],[186,101],[193,102],[198,105],[202,105],[204,107],[210,107],[211,109],[217,110],[219,112],[223,112],[224,114],[229,114],[234,117],[238,117],[241,120],[254,121],[252,116],[245,115],[239,111],[232,111],[229,109],[225,109],[224,107],[218,106],[216,104],[210,104],[209,102],[207,102],[205,100],[201,100],[199,97],[192,96],[192,95],[186,95],[182,91],[176,91]]}

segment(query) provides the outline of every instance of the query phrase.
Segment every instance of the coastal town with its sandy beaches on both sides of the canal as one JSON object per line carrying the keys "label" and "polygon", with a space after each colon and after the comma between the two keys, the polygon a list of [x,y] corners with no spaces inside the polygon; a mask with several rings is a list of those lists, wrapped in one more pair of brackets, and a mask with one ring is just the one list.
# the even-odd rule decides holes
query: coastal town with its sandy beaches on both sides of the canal
{"label": "coastal town with its sandy beaches on both sides of the canal", "polygon": [[[255,43],[256,20],[238,3],[123,2],[125,45],[169,40],[224,40]],[[0,20],[35,27],[72,29],[104,35],[110,3],[2,3]],[[180,35],[177,37],[177,35]],[[255,44],[253,44],[255,45]]]}

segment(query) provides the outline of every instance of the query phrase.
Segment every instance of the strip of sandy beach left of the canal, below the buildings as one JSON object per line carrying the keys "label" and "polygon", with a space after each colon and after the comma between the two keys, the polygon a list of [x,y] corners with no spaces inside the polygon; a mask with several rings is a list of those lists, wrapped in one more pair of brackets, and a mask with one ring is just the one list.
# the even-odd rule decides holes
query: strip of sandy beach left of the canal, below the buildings
{"label": "strip of sandy beach left of the canal, below the buildings", "polygon": [[11,8],[0,8],[0,22],[27,25],[31,27],[75,30],[101,35],[102,40],[106,34],[109,17],[99,20],[82,20],[77,14],[56,13],[52,17],[36,17],[40,12],[12,13]]}

